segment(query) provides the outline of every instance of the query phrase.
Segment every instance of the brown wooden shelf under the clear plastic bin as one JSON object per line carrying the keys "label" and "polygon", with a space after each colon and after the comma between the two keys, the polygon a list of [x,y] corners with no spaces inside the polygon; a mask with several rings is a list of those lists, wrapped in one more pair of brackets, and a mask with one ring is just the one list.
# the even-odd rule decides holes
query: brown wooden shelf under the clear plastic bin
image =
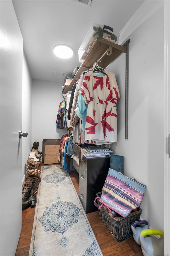
{"label": "brown wooden shelf under the clear plastic bin", "polygon": [[[110,41],[104,40],[104,39],[97,39],[94,44],[91,47],[90,52],[88,53],[86,59],[82,63],[82,65],[79,67],[77,73],[73,77],[73,80],[71,81],[70,85],[67,87],[67,91],[71,91],[74,83],[77,82],[77,78],[80,77],[81,73],[83,71],[86,71],[90,69],[93,64],[100,59],[100,57],[106,52],[108,49],[108,46],[112,46],[112,54],[105,55],[100,62],[100,67],[103,67],[104,69],[111,64],[121,53],[126,53],[126,43],[124,45],[117,45],[116,43],[112,43]],[[65,90],[65,91],[66,91]]]}

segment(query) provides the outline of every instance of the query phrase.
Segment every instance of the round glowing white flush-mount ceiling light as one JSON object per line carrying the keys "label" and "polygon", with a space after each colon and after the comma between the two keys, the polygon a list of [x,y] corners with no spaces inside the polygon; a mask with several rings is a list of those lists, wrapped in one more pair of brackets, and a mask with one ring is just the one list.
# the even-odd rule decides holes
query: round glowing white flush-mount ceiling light
{"label": "round glowing white flush-mount ceiling light", "polygon": [[73,56],[73,50],[68,45],[55,45],[53,51],[57,57],[62,59],[68,59]]}

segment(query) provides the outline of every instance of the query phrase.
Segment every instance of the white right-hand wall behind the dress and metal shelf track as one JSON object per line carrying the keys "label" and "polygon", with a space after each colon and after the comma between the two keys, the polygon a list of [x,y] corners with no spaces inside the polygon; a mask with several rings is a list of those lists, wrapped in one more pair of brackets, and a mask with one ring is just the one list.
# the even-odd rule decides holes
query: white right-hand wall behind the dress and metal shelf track
{"label": "white right-hand wall behind the dress and metal shelf track", "polygon": [[124,174],[146,185],[141,218],[164,231],[164,27],[163,1],[145,1],[121,30],[129,43],[129,137],[125,140],[125,54],[108,70],[120,89],[117,145]]}

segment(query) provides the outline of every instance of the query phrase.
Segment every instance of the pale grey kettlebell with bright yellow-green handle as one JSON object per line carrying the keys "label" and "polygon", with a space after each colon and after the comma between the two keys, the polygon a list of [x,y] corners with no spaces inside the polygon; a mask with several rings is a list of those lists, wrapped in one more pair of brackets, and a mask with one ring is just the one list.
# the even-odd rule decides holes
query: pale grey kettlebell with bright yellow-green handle
{"label": "pale grey kettlebell with bright yellow-green handle", "polygon": [[[156,239],[153,235],[159,235],[160,238]],[[164,233],[161,230],[143,229],[139,237],[144,256],[164,255]]]}

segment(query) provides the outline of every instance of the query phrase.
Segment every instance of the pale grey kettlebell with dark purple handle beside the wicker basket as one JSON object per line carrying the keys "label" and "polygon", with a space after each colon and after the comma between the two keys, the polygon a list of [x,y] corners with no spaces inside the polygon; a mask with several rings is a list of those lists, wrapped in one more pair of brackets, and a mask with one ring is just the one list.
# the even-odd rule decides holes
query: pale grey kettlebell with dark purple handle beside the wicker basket
{"label": "pale grey kettlebell with dark purple handle beside the wicker basket", "polygon": [[131,230],[133,232],[133,238],[138,245],[141,245],[141,241],[139,238],[141,231],[143,229],[148,229],[148,228],[149,228],[149,225],[145,219],[135,221],[132,223]]}

